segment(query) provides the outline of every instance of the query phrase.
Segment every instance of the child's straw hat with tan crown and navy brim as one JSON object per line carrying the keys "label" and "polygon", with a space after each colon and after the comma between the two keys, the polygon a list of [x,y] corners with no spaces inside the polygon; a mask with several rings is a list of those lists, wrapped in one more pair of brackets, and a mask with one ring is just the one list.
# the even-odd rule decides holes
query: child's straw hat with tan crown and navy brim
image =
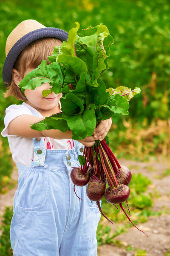
{"label": "child's straw hat with tan crown and navy brim", "polygon": [[6,41],[6,60],[3,65],[3,81],[6,86],[11,82],[12,68],[20,52],[37,39],[48,37],[67,41],[68,33],[62,29],[47,28],[37,20],[24,20],[12,30]]}

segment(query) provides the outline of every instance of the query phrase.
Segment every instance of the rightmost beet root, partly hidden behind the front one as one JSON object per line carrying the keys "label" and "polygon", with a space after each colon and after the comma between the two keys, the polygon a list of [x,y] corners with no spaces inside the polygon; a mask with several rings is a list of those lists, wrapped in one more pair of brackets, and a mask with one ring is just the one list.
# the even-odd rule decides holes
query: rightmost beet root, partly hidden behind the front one
{"label": "rightmost beet root, partly hidden behind the front one", "polygon": [[118,172],[116,173],[116,178],[118,183],[128,186],[132,179],[130,170],[126,166],[121,166],[121,168],[119,168],[117,171]]}

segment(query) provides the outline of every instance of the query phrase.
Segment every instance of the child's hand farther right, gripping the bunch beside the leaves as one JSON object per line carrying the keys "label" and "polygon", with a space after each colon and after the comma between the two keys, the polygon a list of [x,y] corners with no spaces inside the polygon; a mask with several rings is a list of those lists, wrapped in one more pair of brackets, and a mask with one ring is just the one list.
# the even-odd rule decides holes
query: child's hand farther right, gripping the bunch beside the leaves
{"label": "child's hand farther right, gripping the bunch beside the leaves", "polygon": [[112,119],[106,119],[99,122],[99,124],[94,129],[93,137],[97,140],[103,140],[109,129],[111,128]]}

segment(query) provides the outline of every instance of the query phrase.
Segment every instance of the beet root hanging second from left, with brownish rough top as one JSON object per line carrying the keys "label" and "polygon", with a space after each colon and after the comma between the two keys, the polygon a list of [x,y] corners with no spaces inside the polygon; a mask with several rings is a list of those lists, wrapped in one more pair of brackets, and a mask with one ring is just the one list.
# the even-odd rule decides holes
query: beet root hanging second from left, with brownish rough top
{"label": "beet root hanging second from left, with brownish rough top", "polygon": [[92,201],[99,201],[102,199],[106,189],[106,179],[99,180],[94,175],[91,176],[86,193],[88,198]]}

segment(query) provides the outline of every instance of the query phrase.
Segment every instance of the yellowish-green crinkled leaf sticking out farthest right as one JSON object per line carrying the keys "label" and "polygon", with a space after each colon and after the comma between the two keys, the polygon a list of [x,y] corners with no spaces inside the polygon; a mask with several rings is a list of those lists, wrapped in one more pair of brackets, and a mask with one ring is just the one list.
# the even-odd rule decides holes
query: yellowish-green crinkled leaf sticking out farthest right
{"label": "yellowish-green crinkled leaf sticking out farthest right", "polygon": [[125,86],[118,86],[115,89],[113,88],[108,88],[107,91],[109,92],[110,96],[111,95],[116,95],[119,94],[121,95],[124,99],[127,99],[128,101],[132,99],[136,94],[141,92],[141,89],[139,87],[135,87],[134,90],[131,90],[130,88],[127,88]]}

